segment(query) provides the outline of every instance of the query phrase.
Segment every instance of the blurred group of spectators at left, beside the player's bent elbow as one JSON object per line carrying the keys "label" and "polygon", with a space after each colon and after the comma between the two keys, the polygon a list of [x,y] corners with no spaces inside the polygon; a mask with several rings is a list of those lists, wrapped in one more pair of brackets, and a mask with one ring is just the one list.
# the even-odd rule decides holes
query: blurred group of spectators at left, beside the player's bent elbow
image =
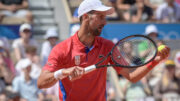
{"label": "blurred group of spectators at left, beside the player's bent elbow", "polygon": [[22,24],[19,35],[12,45],[0,37],[0,101],[58,101],[58,83],[48,89],[37,88],[42,67],[58,43],[57,29],[47,30],[42,45],[32,37],[30,24]]}

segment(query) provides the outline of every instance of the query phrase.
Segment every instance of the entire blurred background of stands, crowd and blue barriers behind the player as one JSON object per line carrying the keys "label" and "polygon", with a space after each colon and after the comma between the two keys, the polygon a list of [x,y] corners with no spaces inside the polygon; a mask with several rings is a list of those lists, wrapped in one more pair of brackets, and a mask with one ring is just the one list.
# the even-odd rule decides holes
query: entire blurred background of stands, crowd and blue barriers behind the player
{"label": "entire blurred background of stands, crowd and blue barriers behind the player", "polygon": [[[0,0],[0,101],[58,101],[58,84],[39,90],[36,80],[51,49],[79,29],[82,1]],[[180,0],[101,1],[115,9],[102,37],[116,43],[144,34],[171,48],[168,60],[135,84],[109,68],[107,101],[180,101]]]}

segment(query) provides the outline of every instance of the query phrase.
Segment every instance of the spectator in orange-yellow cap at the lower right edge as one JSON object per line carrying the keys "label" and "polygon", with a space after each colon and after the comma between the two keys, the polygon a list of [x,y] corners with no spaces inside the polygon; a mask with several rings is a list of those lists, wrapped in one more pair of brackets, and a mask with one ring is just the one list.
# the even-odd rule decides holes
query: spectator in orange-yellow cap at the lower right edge
{"label": "spectator in orange-yellow cap at the lower right edge", "polygon": [[162,101],[172,101],[180,95],[180,79],[175,76],[175,63],[172,60],[165,62],[165,71],[154,88],[154,96]]}

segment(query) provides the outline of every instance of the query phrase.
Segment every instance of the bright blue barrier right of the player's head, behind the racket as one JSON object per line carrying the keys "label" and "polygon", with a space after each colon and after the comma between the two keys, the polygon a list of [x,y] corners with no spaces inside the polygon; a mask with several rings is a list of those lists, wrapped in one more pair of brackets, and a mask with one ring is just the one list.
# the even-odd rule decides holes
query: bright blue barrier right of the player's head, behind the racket
{"label": "bright blue barrier right of the player's head, behind the racket", "polygon": [[[149,24],[109,23],[104,27],[101,36],[112,40],[114,38],[121,39],[133,34],[144,34],[147,25]],[[159,30],[159,39],[180,39],[180,24],[155,25]]]}

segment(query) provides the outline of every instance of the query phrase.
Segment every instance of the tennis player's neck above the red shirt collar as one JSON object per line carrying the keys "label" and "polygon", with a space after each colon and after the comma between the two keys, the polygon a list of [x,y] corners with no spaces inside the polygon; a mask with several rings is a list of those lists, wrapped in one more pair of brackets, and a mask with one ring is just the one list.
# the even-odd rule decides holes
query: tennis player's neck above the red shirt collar
{"label": "tennis player's neck above the red shirt collar", "polygon": [[95,36],[93,36],[92,33],[90,32],[85,32],[83,29],[80,28],[79,32],[78,32],[78,38],[79,40],[87,47],[92,47],[94,40],[95,40]]}

